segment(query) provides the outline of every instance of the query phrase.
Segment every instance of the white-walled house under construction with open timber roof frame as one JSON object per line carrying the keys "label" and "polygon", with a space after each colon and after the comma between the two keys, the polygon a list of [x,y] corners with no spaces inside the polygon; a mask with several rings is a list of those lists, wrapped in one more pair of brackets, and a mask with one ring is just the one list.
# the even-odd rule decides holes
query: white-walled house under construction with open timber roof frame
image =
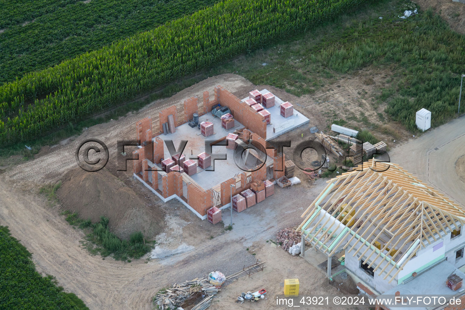
{"label": "white-walled house under construction with open timber roof frame", "polygon": [[[455,294],[445,286],[465,264],[465,212],[399,165],[371,159],[329,180],[302,214],[301,255],[344,257],[361,293]],[[337,260],[336,260],[337,261]],[[434,281],[428,279],[434,275]],[[463,294],[463,292],[462,292]]]}

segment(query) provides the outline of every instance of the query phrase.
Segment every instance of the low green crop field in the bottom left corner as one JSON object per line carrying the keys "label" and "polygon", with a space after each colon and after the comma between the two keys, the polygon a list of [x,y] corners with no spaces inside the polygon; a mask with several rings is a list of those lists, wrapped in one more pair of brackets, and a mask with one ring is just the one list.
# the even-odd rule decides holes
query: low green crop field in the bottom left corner
{"label": "low green crop field in the bottom left corner", "polygon": [[31,253],[0,226],[0,309],[89,310],[73,293],[57,287],[52,276],[42,277]]}

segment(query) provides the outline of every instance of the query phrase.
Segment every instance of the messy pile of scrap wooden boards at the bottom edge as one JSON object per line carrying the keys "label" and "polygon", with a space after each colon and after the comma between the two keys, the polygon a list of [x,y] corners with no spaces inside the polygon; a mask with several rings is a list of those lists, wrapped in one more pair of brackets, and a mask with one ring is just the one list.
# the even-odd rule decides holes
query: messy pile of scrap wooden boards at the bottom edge
{"label": "messy pile of scrap wooden boards at the bottom edge", "polygon": [[164,293],[158,292],[154,298],[154,302],[161,310],[176,309],[181,306],[187,298],[200,291],[204,291],[206,295],[214,295],[218,293],[216,286],[212,286],[208,283],[207,278],[196,278],[192,281],[174,284],[171,289],[166,289]]}

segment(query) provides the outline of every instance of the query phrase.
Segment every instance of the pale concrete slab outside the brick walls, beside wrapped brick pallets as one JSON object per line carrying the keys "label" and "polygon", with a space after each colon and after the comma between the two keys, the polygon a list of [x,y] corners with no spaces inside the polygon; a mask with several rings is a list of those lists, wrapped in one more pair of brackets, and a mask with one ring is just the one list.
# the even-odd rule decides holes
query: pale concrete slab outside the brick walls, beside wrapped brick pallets
{"label": "pale concrete slab outside the brick walls, beside wrapped brick pallets", "polygon": [[[269,92],[267,89],[260,91],[261,94]],[[243,101],[249,99],[246,97],[242,99]],[[302,113],[294,109],[294,114],[287,119],[284,116],[281,116],[281,103],[285,101],[279,99],[274,95],[274,106],[266,109],[271,113],[271,124],[266,126],[266,141],[274,139],[279,135],[282,135],[285,132],[291,131],[294,128],[297,128],[301,125],[308,124],[309,119],[307,119]],[[292,103],[292,102],[291,102]],[[273,131],[273,128],[275,129]]]}

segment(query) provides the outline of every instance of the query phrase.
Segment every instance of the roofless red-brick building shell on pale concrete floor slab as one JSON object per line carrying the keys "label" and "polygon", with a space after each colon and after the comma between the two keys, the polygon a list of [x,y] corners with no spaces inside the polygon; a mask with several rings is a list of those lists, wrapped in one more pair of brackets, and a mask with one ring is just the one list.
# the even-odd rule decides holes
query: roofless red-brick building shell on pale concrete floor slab
{"label": "roofless red-brick building shell on pale concrete floor slab", "polygon": [[[262,93],[269,92],[254,93],[250,101],[259,105]],[[297,111],[290,117],[281,116],[276,105],[283,101],[273,98],[275,106],[272,106],[270,97],[265,96],[268,113],[263,113],[245,102],[251,98],[240,100],[222,86],[216,86],[213,100],[209,92],[204,92],[203,100],[192,97],[182,106],[160,111],[158,117],[140,120],[136,135],[141,146],[133,152],[133,158],[139,158],[133,161],[134,177],[162,201],[177,199],[201,219],[207,218],[212,207],[228,208],[231,192],[235,196],[251,187],[253,190],[256,183],[282,177],[284,154],[266,140],[306,124],[308,119]],[[221,111],[225,107],[225,115],[218,114],[219,106]],[[193,124],[195,119],[198,121]],[[176,147],[187,140],[184,152],[170,153],[166,140],[173,141]],[[241,159],[247,169],[241,169],[233,158],[238,149],[251,145],[261,146],[259,150],[265,152],[258,149],[243,152]],[[214,154],[226,154],[227,159],[213,161]]]}

